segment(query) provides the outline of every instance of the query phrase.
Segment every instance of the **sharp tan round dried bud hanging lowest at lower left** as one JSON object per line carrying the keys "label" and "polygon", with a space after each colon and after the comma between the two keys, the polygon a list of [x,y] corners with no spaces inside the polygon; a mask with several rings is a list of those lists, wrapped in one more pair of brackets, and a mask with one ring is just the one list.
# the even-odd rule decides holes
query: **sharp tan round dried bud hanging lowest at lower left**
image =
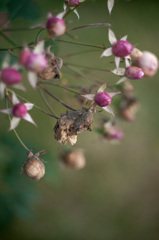
{"label": "sharp tan round dried bud hanging lowest at lower left", "polygon": [[45,166],[43,162],[35,157],[30,157],[23,166],[24,173],[28,178],[40,180],[45,174]]}

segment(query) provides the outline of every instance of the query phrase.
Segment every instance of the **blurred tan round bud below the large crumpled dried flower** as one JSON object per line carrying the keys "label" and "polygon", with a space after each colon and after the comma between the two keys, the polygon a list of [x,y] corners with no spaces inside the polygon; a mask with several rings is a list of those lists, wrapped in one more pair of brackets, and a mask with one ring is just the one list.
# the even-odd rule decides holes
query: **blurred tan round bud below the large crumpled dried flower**
{"label": "blurred tan round bud below the large crumpled dried flower", "polygon": [[86,165],[85,156],[81,150],[64,152],[62,159],[65,165],[71,168],[81,169]]}

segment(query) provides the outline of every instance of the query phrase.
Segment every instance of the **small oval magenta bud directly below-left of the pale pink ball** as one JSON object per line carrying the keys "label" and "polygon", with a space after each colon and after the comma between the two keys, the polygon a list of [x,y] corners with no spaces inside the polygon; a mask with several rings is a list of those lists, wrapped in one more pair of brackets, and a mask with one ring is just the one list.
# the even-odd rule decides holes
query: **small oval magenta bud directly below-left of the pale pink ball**
{"label": "small oval magenta bud directly below-left of the pale pink ball", "polygon": [[130,66],[126,68],[125,75],[130,79],[141,79],[144,76],[144,72],[141,68]]}

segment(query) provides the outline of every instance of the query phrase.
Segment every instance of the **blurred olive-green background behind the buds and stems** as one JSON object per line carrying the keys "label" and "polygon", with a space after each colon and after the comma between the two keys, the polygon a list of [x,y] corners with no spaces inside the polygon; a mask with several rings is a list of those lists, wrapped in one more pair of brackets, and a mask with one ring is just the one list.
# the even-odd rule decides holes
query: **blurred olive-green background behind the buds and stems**
{"label": "blurred olive-green background behind the buds and stems", "polygon": [[[5,2],[0,1],[1,11],[5,10]],[[18,9],[22,18],[14,19],[16,14],[10,15],[13,19],[11,27],[36,25],[46,21],[48,12],[56,15],[63,11],[63,1],[60,0],[36,0],[34,3],[38,10],[31,11],[31,6],[27,12],[19,11],[19,0],[12,1],[10,14],[13,9]],[[111,16],[106,3],[106,0],[88,1],[79,8],[79,21],[74,14],[67,19],[68,27],[109,22],[118,39],[128,34],[128,40],[138,48],[159,56],[159,1],[116,0]],[[27,19],[28,14],[30,17]],[[13,32],[9,37],[22,45],[34,41],[36,34],[37,30]],[[107,28],[81,29],[72,32],[72,35],[77,36],[80,42],[109,45]],[[72,40],[68,36],[61,39]],[[1,48],[12,47],[2,38],[0,41]],[[99,60],[100,50],[68,57],[70,53],[84,50],[90,48],[58,43],[55,52],[63,57],[65,63],[114,68],[109,63],[113,58]],[[65,67],[62,74],[61,81],[86,86],[94,80],[114,84],[118,79],[111,73],[99,71],[82,73],[85,74],[82,78],[71,74]],[[8,132],[7,116],[0,116],[1,240],[159,239],[158,77],[159,74],[156,74],[151,79],[133,82],[140,111],[133,123],[119,121],[126,135],[121,144],[99,141],[94,131],[78,136],[73,148],[85,149],[87,159],[86,167],[79,171],[62,168],[59,164],[61,146],[54,140],[52,130],[56,121],[37,110],[32,111],[38,128],[21,121],[17,131],[35,152],[49,150],[44,156],[46,175],[39,182],[26,178],[24,174],[19,175],[27,158],[26,151],[14,133]],[[24,78],[29,90],[23,96],[45,108],[38,92],[29,86],[26,76]],[[74,94],[55,87],[50,87],[50,90],[67,104],[79,108]],[[50,103],[57,114],[65,111],[58,103],[52,100]],[[2,100],[0,108],[5,108]],[[101,115],[107,116],[107,113],[102,112]],[[101,115],[96,114],[94,127],[98,126]]]}

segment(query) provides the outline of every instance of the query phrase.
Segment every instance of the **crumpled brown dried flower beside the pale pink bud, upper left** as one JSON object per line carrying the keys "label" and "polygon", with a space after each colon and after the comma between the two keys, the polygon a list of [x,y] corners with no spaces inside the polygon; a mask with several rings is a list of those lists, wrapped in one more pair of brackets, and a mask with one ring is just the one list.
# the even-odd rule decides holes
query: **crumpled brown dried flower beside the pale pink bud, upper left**
{"label": "crumpled brown dried flower beside the pale pink bud, upper left", "polygon": [[60,79],[60,69],[63,65],[63,60],[62,58],[55,57],[55,55],[50,51],[50,48],[51,46],[46,49],[48,67],[38,73],[38,76],[43,80],[51,80],[54,78]]}

